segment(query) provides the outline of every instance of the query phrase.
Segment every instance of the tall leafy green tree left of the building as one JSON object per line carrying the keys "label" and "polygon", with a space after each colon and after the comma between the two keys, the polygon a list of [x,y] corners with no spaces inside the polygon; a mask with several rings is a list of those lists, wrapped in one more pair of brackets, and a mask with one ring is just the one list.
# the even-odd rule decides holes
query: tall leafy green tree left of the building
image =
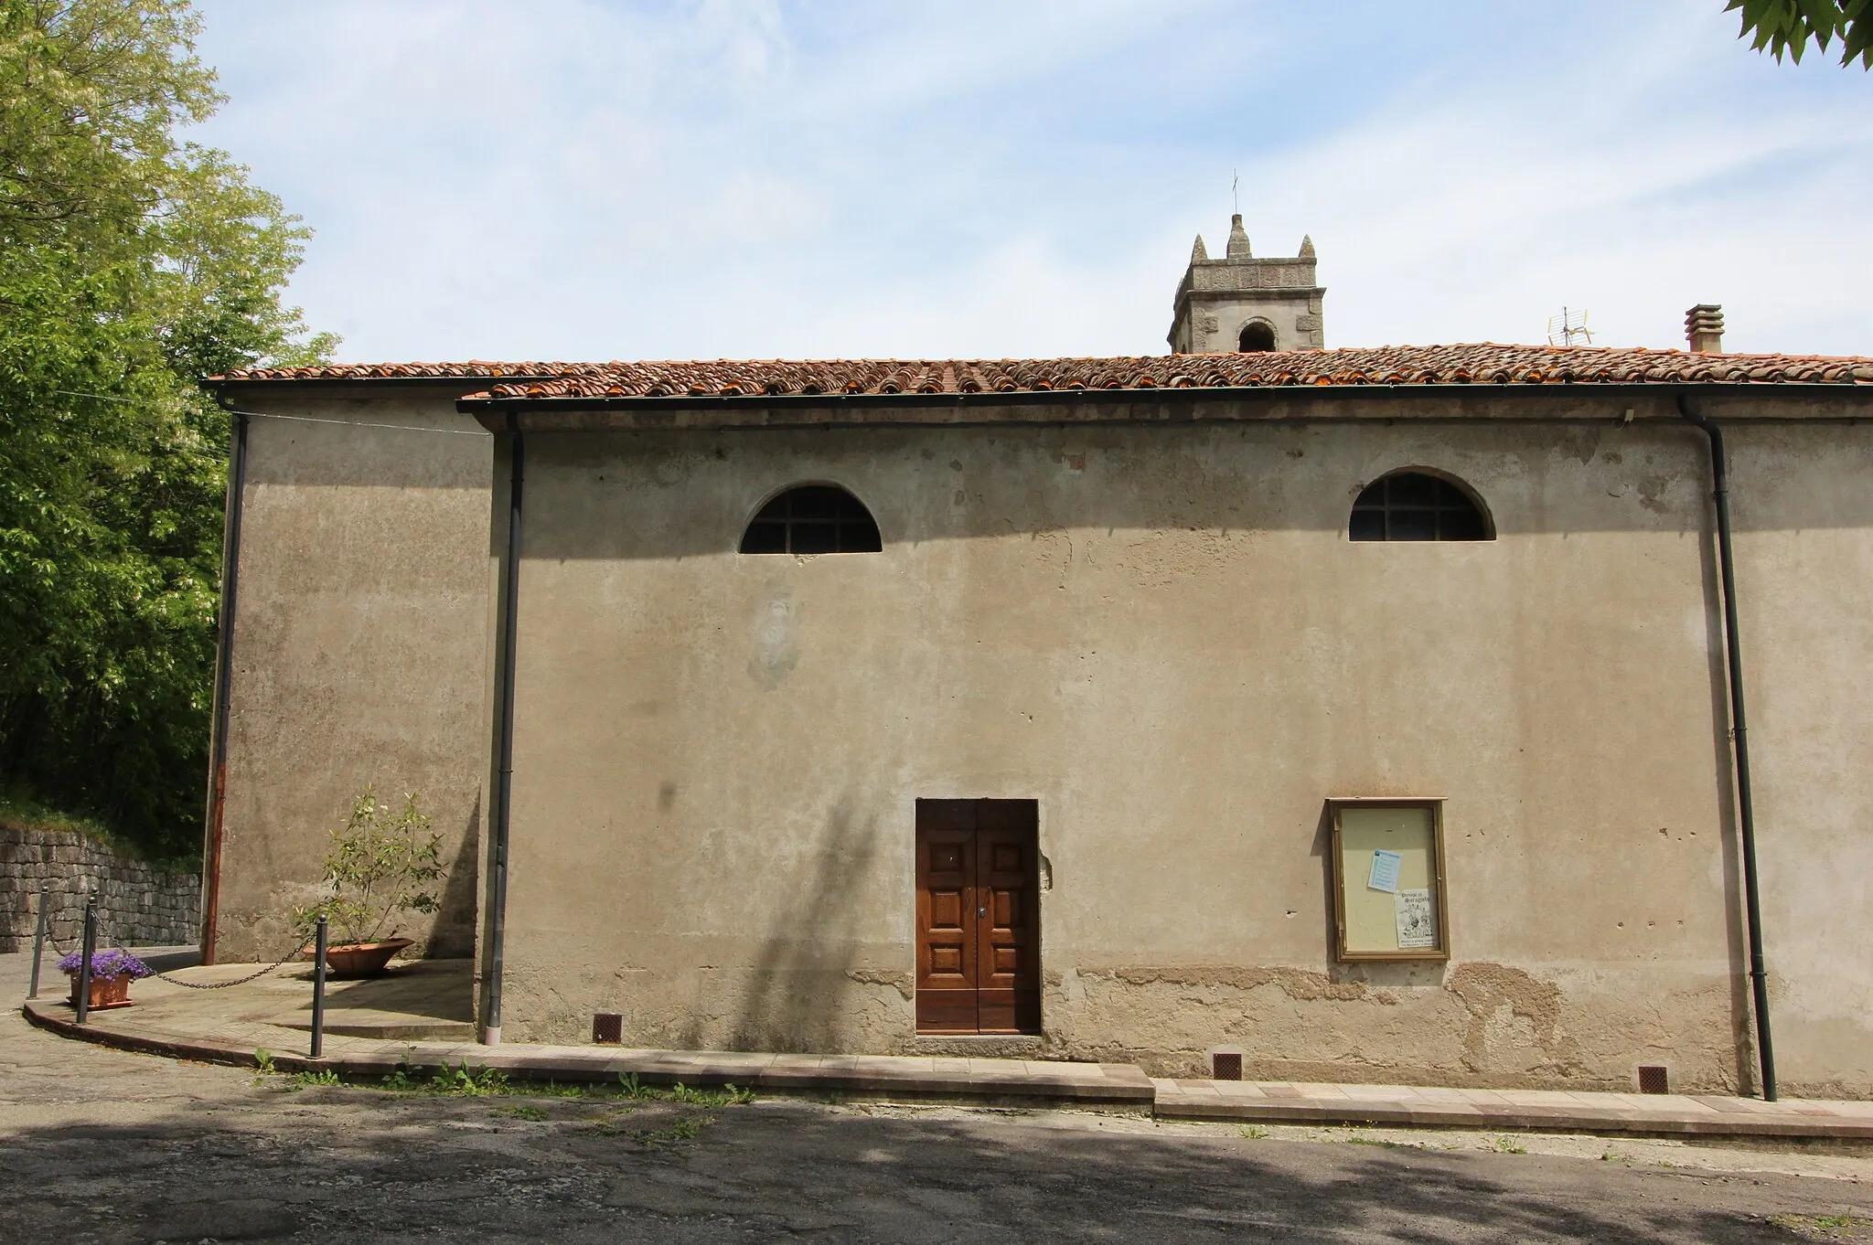
{"label": "tall leafy green tree left of the building", "polygon": [[178,129],[221,103],[187,0],[0,0],[0,784],[150,856],[200,841],[227,414],[311,361],[307,230]]}

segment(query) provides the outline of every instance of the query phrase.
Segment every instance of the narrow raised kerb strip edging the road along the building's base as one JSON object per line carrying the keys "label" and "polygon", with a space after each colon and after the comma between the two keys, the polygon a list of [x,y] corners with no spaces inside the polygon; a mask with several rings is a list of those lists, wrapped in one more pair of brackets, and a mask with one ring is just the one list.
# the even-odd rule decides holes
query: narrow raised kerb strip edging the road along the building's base
{"label": "narrow raised kerb strip edging the road along the building's base", "polygon": [[[253,1045],[215,1033],[139,1026],[135,1009],[94,1013],[84,1026],[75,1022],[73,1009],[64,1000],[30,1000],[22,1011],[32,1024],[79,1041],[208,1063],[258,1065]],[[361,1078],[397,1071],[423,1077],[466,1065],[536,1082],[611,1084],[620,1077],[637,1077],[650,1086],[734,1084],[762,1093],[1071,1106],[1159,1120],[1873,1142],[1873,1103],[1843,1101],[1761,1103],[1719,1095],[1171,1080],[1146,1077],[1131,1063],[1043,1060],[481,1047],[360,1037],[337,1037],[330,1047],[333,1054],[322,1060],[285,1050],[270,1052],[270,1060],[281,1071],[332,1069]]]}

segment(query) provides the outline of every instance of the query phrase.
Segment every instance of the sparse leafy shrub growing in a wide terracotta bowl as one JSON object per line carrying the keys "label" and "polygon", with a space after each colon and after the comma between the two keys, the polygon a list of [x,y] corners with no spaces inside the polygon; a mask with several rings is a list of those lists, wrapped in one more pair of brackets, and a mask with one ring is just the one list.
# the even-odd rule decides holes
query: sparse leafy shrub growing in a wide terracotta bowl
{"label": "sparse leafy shrub growing in a wide terracotta bowl", "polygon": [[358,794],[350,816],[332,831],[324,895],[292,910],[307,940],[318,917],[328,921],[326,968],[333,977],[369,977],[410,945],[397,938],[405,912],[435,912],[442,882],[442,835],[403,798],[403,811],[378,803],[376,788]]}

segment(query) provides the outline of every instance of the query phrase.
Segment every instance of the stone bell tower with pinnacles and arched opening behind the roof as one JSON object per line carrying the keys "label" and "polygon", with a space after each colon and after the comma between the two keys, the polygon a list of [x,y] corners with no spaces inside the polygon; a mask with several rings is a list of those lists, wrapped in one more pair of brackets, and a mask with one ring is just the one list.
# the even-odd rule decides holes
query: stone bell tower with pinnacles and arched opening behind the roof
{"label": "stone bell tower with pinnacles and arched opening behind the roof", "polygon": [[1229,219],[1229,253],[1212,260],[1197,234],[1176,288],[1171,354],[1231,350],[1320,350],[1320,300],[1313,240],[1294,258],[1255,258],[1242,213]]}

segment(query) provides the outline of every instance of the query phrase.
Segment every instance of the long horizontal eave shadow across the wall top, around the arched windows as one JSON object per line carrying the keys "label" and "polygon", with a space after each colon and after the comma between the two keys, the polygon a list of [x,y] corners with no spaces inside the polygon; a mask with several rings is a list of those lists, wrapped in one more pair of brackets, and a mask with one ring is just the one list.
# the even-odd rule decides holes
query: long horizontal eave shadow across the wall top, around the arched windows
{"label": "long horizontal eave shadow across the wall top, around the arched windows", "polygon": [[[1465,481],[1504,537],[1708,526],[1701,434],[1676,423],[538,432],[528,468],[526,556],[541,560],[732,552],[755,509],[796,483],[852,491],[886,547],[1060,530],[1345,532],[1360,491],[1403,468]],[[1777,524],[1873,526],[1873,496],[1839,496]]]}

